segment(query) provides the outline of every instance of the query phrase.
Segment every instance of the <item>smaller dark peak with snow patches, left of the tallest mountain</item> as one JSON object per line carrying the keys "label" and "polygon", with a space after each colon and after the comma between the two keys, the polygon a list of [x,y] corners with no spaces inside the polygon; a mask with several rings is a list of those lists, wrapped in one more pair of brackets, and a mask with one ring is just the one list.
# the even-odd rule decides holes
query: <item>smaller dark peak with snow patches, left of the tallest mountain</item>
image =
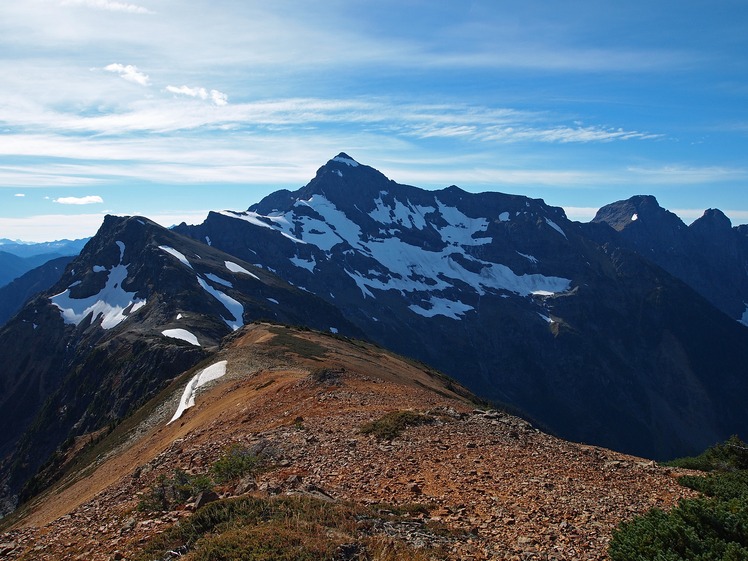
{"label": "smaller dark peak with snow patches, left of the tallest mountain", "polygon": [[267,271],[146,219],[107,217],[59,282],[0,330],[4,498],[65,439],[116,423],[259,319],[360,333]]}

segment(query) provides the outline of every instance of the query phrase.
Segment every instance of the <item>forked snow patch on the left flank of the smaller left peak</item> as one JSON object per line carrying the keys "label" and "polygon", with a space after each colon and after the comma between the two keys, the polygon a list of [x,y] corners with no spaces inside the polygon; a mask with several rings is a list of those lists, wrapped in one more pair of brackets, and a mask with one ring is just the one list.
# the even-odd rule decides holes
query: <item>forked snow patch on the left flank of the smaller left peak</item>
{"label": "forked snow patch on the left flank of the smaller left peak", "polygon": [[120,248],[120,262],[108,269],[106,285],[97,294],[73,298],[70,289],[80,284],[80,281],[76,281],[64,292],[50,298],[51,303],[59,308],[65,323],[78,325],[91,314],[91,323],[101,318],[101,327],[111,329],[145,306],[144,299],[136,298],[134,292],[122,288],[122,283],[127,279],[127,265],[122,264],[125,244],[118,241],[117,245]]}

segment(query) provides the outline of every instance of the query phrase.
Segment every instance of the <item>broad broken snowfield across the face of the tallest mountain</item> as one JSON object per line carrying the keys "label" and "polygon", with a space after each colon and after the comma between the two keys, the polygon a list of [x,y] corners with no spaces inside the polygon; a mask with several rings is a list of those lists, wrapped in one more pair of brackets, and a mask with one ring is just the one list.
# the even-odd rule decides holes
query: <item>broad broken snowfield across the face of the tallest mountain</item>
{"label": "broad broken snowfield across the face of the tallest mountain", "polygon": [[[568,279],[541,274],[518,275],[506,265],[473,257],[472,248],[488,245],[493,241],[486,235],[489,227],[487,218],[467,216],[438,198],[434,199],[435,206],[413,205],[408,200],[398,199],[385,202],[387,194],[386,191],[381,191],[374,201],[374,210],[368,213],[370,218],[384,227],[379,229],[376,238],[365,236],[356,222],[320,194],[314,194],[306,200],[297,200],[293,209],[285,213],[272,216],[254,213],[250,221],[265,228],[280,230],[288,237],[312,244],[326,253],[341,243],[347,244],[353,249],[345,249],[343,253],[350,256],[357,253],[359,259],[352,261],[355,265],[351,264],[345,272],[354,280],[364,297],[374,298],[373,289],[397,290],[403,294],[431,293],[431,297],[435,299],[431,307],[416,305],[411,308],[421,315],[432,314],[432,310],[444,310],[441,315],[456,318],[469,311],[469,307],[464,304],[456,304],[440,294],[456,283],[467,284],[481,295],[488,290],[528,296],[533,293],[553,294],[569,289],[571,281]],[[508,213],[506,214],[505,218],[508,219]],[[247,219],[245,215],[236,213],[227,216]],[[566,235],[550,219],[546,219],[546,222]],[[395,227],[387,229],[388,226]],[[429,250],[420,245],[412,245],[401,239],[399,234],[403,228],[433,228],[446,247]],[[537,263],[537,259],[530,255],[523,257]],[[314,257],[312,260],[293,257],[291,263],[310,271],[317,265]]]}

